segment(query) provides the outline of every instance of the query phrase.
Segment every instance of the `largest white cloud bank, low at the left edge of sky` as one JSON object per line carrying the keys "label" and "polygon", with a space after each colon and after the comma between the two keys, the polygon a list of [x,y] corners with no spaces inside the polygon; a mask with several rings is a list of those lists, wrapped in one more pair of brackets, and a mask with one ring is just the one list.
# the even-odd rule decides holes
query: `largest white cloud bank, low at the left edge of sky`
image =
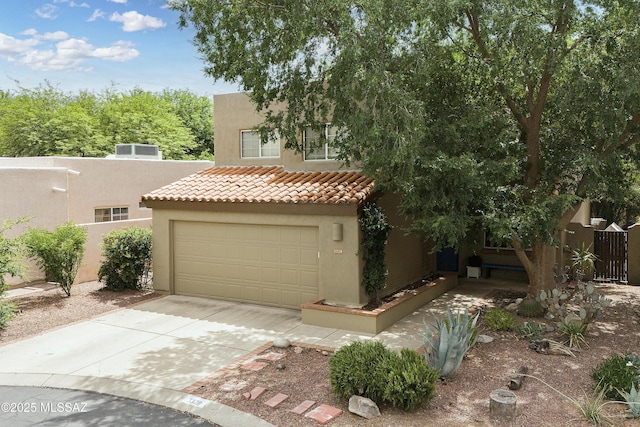
{"label": "largest white cloud bank, low at the left edge of sky", "polygon": [[[140,52],[127,41],[95,47],[86,40],[70,37],[64,31],[39,34],[34,29],[29,29],[22,34],[27,38],[20,40],[0,33],[0,58],[36,71],[88,70],[86,67],[83,68],[82,64],[90,59],[123,62],[140,55]],[[40,44],[43,44],[43,47],[36,49]]]}

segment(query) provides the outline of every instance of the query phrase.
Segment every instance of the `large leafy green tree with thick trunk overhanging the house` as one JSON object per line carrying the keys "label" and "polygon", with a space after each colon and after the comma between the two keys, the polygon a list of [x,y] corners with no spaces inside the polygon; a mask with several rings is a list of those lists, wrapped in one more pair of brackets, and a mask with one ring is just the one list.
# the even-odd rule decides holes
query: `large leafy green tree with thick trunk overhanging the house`
{"label": "large leafy green tree with thick trunk overhanging the house", "polygon": [[[177,0],[217,79],[238,81],[291,148],[323,123],[416,231],[510,243],[530,292],[558,232],[620,194],[640,141],[640,2]],[[282,113],[271,113],[285,103]]]}

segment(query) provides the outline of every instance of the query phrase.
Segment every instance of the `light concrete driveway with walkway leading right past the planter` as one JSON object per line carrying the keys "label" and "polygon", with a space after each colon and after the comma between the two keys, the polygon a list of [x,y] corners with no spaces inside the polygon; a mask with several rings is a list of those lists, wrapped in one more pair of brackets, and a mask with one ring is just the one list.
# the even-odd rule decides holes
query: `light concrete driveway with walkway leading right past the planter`
{"label": "light concrete driveway with walkway leading right past the planter", "polygon": [[189,412],[222,426],[268,426],[182,390],[276,338],[334,348],[375,338],[393,349],[415,349],[422,345],[423,319],[513,286],[463,281],[375,336],[303,325],[296,310],[167,296],[1,346],[0,385],[93,391]]}

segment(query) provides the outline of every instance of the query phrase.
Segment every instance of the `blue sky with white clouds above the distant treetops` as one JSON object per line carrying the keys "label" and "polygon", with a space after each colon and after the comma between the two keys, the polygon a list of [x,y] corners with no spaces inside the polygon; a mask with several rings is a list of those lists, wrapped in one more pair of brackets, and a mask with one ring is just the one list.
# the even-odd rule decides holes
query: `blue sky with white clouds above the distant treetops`
{"label": "blue sky with white clouds above the distant treetops", "polygon": [[107,88],[238,92],[205,76],[193,30],[166,0],[0,0],[0,89],[45,82],[65,92]]}

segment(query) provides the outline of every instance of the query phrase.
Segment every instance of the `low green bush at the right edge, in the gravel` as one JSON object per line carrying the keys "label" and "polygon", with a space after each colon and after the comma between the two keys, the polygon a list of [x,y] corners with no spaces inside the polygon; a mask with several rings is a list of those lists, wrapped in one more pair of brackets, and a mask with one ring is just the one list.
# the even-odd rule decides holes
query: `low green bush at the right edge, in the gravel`
{"label": "low green bush at the right edge, in the gravel", "polygon": [[614,354],[593,368],[591,378],[606,397],[620,400],[624,398],[621,390],[638,387],[638,367],[640,361],[637,357]]}

